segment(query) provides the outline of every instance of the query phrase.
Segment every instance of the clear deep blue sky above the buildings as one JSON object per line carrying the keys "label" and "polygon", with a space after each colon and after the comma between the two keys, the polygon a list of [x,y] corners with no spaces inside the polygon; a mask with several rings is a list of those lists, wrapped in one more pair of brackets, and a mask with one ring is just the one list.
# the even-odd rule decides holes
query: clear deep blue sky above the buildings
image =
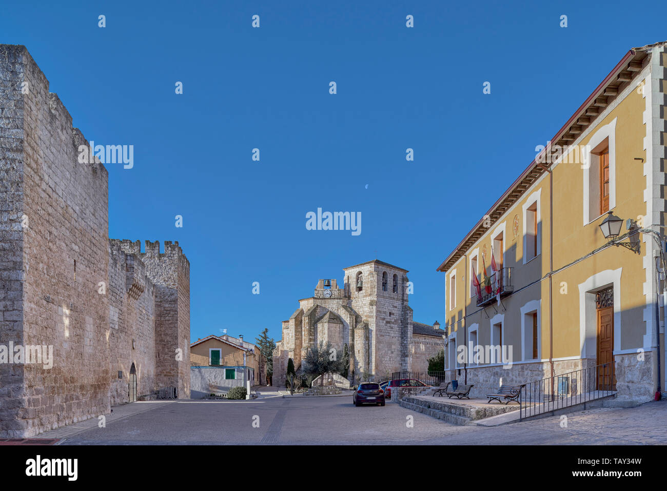
{"label": "clear deep blue sky above the buildings", "polygon": [[[279,340],[318,278],[376,251],[410,270],[414,319],[444,324],[442,260],[628,49],[667,39],[616,1],[1,1],[0,43],[85,137],[134,145],[132,169],[107,164],[109,235],[179,241],[193,340]],[[362,233],[305,229],[317,207]]]}

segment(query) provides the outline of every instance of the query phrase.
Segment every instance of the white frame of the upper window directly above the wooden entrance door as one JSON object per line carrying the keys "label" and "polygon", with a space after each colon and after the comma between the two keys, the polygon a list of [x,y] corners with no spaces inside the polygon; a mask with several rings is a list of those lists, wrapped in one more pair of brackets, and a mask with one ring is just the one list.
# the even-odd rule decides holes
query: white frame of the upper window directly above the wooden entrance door
{"label": "white frame of the upper window directly above the wooden entrance door", "polygon": [[[590,199],[591,199],[591,169],[598,169],[600,167],[600,160],[592,153],[592,150],[595,149],[604,139],[608,139],[609,145],[609,211],[612,211],[616,207],[616,119],[614,118],[610,123],[601,126],[598,130],[593,133],[584,147],[584,162],[582,163],[582,169],[584,169],[584,225],[588,225],[596,221],[602,215],[595,211],[592,213],[590,209]],[[599,170],[596,170],[599,172]],[[600,183],[594,183],[600,187]]]}

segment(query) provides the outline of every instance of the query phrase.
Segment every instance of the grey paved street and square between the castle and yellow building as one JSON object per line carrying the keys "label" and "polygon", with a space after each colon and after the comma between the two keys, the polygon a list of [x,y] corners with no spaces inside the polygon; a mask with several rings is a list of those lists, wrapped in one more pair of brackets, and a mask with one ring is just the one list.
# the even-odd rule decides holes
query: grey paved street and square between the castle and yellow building
{"label": "grey paved street and square between the castle and yellow building", "polygon": [[[398,404],[352,397],[169,401],[39,435],[60,444],[667,444],[667,402],[598,408],[504,426],[455,426]],[[114,408],[115,412],[117,408]],[[412,422],[412,426],[410,423]],[[254,425],[253,425],[254,423]],[[85,427],[88,424],[88,427]],[[566,424],[566,426],[565,426]],[[563,426],[562,426],[563,425]],[[75,428],[77,427],[77,428]]]}

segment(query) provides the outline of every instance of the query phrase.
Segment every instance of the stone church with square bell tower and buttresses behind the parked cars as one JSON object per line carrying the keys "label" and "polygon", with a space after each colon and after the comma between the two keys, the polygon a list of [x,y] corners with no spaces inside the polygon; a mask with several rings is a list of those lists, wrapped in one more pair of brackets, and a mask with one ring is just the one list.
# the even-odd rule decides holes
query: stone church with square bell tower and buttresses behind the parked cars
{"label": "stone church with square bell tower and buttresses behind the parked cars", "polygon": [[[284,386],[287,360],[298,370],[307,349],[331,342],[350,352],[350,380],[386,380],[394,372],[426,372],[428,358],[443,349],[444,331],[412,320],[407,270],[374,260],[344,268],[344,285],[319,280],[313,296],[282,323],[273,351],[273,385]],[[356,378],[354,378],[356,377]]]}

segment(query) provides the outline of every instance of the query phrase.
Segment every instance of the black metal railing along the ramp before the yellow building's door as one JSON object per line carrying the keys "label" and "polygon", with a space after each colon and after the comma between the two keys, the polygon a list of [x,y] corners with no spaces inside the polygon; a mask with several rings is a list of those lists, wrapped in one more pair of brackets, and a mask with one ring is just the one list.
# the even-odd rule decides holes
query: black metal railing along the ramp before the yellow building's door
{"label": "black metal railing along the ramp before the yellow building's door", "polygon": [[530,418],[614,394],[614,364],[582,368],[521,386],[519,418]]}

